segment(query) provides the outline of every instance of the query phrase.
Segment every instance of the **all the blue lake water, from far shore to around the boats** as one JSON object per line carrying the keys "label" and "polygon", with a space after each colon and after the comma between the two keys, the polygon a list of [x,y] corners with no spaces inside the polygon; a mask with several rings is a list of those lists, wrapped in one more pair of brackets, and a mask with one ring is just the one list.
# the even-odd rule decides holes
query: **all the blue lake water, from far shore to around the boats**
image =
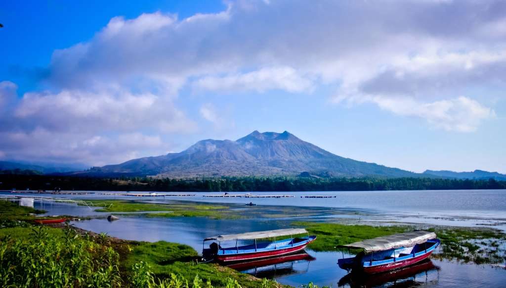
{"label": "all the blue lake water, from far shore to around the boats", "polygon": [[[203,193],[205,195],[215,193]],[[244,194],[244,193],[238,193]],[[335,218],[350,218],[353,221],[419,223],[423,225],[459,225],[488,226],[503,228],[506,222],[506,191],[381,191],[381,192],[283,192],[254,193],[256,195],[290,194],[292,198],[206,198],[202,194],[195,197],[156,197],[147,201],[166,202],[174,199],[219,203],[238,203],[243,205],[253,201],[259,206],[298,206],[336,208],[342,213],[334,214]],[[301,198],[303,195],[332,195],[336,198]],[[10,193],[4,195],[11,196]],[[28,195],[27,195],[28,196]],[[34,195],[32,195],[34,196]],[[58,195],[58,197],[61,197]],[[66,197],[66,196],[65,196]],[[103,197],[97,194],[83,195],[81,198],[125,198]],[[72,198],[76,198],[75,196]],[[48,210],[48,214],[72,215],[106,215],[95,212],[86,206],[35,200],[35,208]],[[237,205],[239,207],[239,205]],[[341,209],[341,210],[340,210]],[[353,211],[358,213],[358,216]],[[284,219],[240,219],[212,220],[206,218],[143,218],[135,214],[123,215],[121,220],[108,222],[104,219],[74,222],[79,228],[94,232],[106,232],[111,236],[141,241],[171,241],[192,246],[197,251],[202,249],[204,237],[217,234],[242,233],[280,229],[289,227],[293,220],[289,215]],[[328,219],[327,219],[328,220]],[[446,224],[449,223],[449,224]],[[458,264],[447,261],[432,260],[407,270],[393,274],[375,276],[369,279],[354,279],[347,276],[336,262],[342,257],[337,252],[315,252],[307,249],[309,256],[300,259],[274,263],[258,267],[242,267],[241,272],[259,277],[274,278],[283,284],[300,286],[312,281],[317,285],[378,286],[378,287],[415,287],[415,286],[504,286],[506,270],[490,265]],[[345,255],[346,256],[346,255]]]}

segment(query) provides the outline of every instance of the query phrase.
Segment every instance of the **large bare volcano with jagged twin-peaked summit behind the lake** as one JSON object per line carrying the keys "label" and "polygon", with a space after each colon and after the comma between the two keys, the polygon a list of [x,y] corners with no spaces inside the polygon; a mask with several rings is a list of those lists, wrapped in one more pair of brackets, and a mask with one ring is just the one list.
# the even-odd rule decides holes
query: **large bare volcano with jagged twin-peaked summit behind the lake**
{"label": "large bare volcano with jagged twin-peaked summit behind the lake", "polygon": [[206,139],[180,153],[133,159],[76,172],[83,175],[268,176],[310,172],[326,176],[416,177],[421,174],[344,158],[293,134],[254,131],[236,141]]}

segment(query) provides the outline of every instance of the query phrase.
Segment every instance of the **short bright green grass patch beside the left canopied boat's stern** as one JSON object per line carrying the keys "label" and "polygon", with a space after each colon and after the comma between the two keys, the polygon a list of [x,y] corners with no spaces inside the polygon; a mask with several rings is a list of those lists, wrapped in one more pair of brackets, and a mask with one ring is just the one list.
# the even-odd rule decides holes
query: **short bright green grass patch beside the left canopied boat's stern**
{"label": "short bright green grass patch beside the left canopied boat's stern", "polygon": [[122,265],[131,267],[134,263],[142,261],[147,263],[151,272],[160,278],[170,277],[172,273],[186,279],[193,279],[198,275],[204,282],[210,280],[213,285],[221,286],[223,281],[230,277],[243,287],[262,287],[262,281],[255,277],[217,264],[197,264],[198,259],[197,251],[187,245],[165,241],[140,242],[133,247],[133,251]]}

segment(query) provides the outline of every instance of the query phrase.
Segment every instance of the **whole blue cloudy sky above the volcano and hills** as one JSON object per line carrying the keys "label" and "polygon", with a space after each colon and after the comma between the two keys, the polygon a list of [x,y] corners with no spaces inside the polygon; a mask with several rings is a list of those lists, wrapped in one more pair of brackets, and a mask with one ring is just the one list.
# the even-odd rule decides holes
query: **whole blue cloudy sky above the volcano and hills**
{"label": "whole blue cloudy sky above the volcano and hills", "polygon": [[4,1],[0,160],[115,164],[289,131],[506,173],[506,2]]}

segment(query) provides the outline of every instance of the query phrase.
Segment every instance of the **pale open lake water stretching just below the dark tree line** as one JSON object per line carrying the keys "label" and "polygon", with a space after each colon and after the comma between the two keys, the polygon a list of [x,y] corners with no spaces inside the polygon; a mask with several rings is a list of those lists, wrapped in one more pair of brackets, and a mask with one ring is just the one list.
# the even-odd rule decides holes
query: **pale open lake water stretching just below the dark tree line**
{"label": "pale open lake water stretching just below the dark tree line", "polygon": [[[122,192],[124,193],[124,192]],[[171,196],[177,193],[160,193],[164,197],[128,197],[100,195],[51,195],[51,194],[11,194],[59,198],[81,199],[130,199],[143,201],[201,201],[214,203],[254,202],[259,206],[304,206],[328,207],[356,210],[360,220],[369,223],[413,223],[427,225],[490,227],[506,231],[506,190],[431,190],[431,191],[335,191],[335,192],[253,192],[254,195],[293,195],[290,198],[211,198],[204,195],[223,195],[223,193],[184,193],[196,194],[191,197]],[[245,194],[230,192],[230,195]],[[327,195],[335,198],[301,198],[305,195]],[[83,213],[85,211],[83,210]],[[349,213],[335,214],[334,217],[349,217]]]}

